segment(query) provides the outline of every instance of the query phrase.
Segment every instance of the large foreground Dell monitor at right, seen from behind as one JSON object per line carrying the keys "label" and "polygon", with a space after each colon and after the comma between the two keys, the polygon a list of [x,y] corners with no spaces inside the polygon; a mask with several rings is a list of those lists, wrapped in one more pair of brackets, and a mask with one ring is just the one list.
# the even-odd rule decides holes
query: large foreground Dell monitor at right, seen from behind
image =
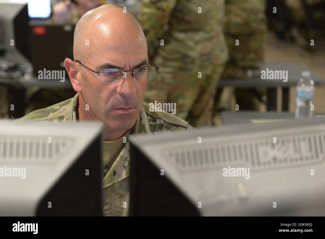
{"label": "large foreground Dell monitor at right, seen from behind", "polygon": [[325,216],[325,119],[131,135],[132,216]]}

